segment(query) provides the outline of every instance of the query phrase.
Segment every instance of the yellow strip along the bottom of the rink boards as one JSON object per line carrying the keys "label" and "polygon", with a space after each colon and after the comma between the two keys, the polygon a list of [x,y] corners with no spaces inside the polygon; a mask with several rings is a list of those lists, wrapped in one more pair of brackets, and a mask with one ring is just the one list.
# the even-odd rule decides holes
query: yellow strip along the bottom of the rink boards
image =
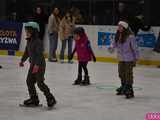
{"label": "yellow strip along the bottom of the rink boards", "polygon": [[[13,51],[13,50],[0,50],[0,55],[9,55],[9,56],[22,56],[24,52],[22,51]],[[48,54],[44,53],[45,58],[48,58]],[[59,55],[57,55],[59,56]],[[65,56],[67,58],[67,56]],[[110,63],[117,63],[116,58],[112,57],[96,57],[98,62],[110,62]],[[76,60],[76,57],[74,57]],[[156,60],[139,60],[137,62],[140,65],[160,65],[160,61]]]}

